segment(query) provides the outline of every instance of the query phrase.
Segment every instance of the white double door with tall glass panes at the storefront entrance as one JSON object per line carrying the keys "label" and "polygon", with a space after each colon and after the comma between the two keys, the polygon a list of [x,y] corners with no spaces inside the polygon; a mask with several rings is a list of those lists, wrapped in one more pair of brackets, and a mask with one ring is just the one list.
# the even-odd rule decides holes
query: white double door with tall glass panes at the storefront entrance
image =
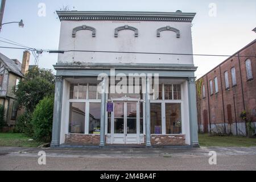
{"label": "white double door with tall glass panes at the storefront entrance", "polygon": [[139,143],[139,103],[114,102],[113,143]]}

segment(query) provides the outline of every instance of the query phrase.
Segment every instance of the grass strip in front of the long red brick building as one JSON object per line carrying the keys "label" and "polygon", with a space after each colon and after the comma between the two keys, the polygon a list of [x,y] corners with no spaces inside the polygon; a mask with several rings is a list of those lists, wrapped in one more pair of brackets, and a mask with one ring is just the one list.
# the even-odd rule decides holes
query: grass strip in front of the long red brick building
{"label": "grass strip in front of the long red brick building", "polygon": [[199,143],[202,147],[252,147],[256,146],[256,138],[199,134]]}

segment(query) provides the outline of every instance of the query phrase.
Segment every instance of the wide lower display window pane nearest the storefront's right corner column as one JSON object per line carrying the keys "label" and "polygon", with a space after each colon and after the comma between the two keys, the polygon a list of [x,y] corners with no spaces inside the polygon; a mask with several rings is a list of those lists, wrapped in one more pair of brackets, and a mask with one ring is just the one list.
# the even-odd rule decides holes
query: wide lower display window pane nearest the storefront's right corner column
{"label": "wide lower display window pane nearest the storefront's right corner column", "polygon": [[166,104],[166,134],[181,133],[181,104]]}

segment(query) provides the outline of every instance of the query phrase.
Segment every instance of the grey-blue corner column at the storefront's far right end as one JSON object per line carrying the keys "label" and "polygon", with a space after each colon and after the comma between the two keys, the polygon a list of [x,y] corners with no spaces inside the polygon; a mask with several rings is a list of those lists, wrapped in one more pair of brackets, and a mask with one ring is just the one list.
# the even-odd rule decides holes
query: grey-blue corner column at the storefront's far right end
{"label": "grey-blue corner column at the storefront's far right end", "polygon": [[196,105],[196,78],[188,78],[188,104],[189,104],[189,129],[190,141],[194,147],[199,147],[197,105]]}

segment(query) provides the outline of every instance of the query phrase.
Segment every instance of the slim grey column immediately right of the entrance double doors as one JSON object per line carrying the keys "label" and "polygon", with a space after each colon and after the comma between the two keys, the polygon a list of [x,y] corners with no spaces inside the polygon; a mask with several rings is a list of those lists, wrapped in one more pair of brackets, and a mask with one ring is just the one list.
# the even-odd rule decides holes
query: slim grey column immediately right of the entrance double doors
{"label": "slim grey column immediately right of the entrance double doors", "polygon": [[150,129],[150,77],[146,80],[146,146],[151,147],[151,129]]}

